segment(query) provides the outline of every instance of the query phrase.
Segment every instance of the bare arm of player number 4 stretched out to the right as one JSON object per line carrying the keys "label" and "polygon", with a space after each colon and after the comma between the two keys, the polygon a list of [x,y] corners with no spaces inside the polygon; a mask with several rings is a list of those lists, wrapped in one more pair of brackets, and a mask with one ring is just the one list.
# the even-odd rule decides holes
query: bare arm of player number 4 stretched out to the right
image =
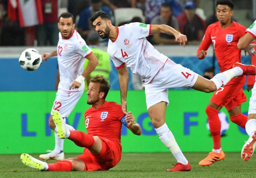
{"label": "bare arm of player number 4 stretched out to the right", "polygon": [[165,33],[169,35],[174,35],[177,42],[180,42],[183,47],[185,47],[185,43],[187,42],[187,36],[181,34],[179,31],[175,30],[174,28],[168,25],[151,25],[151,32],[150,34],[157,34],[157,33]]}

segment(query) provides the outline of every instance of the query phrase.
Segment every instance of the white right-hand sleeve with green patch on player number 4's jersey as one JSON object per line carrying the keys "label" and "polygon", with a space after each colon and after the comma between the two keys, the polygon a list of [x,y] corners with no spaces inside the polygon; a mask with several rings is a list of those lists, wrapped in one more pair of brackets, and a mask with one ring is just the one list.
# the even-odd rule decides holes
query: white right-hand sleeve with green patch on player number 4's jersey
{"label": "white right-hand sleeve with green patch on player number 4's jersey", "polygon": [[132,31],[132,33],[138,38],[144,38],[150,35],[151,32],[151,25],[144,24],[144,23],[129,23],[128,27]]}

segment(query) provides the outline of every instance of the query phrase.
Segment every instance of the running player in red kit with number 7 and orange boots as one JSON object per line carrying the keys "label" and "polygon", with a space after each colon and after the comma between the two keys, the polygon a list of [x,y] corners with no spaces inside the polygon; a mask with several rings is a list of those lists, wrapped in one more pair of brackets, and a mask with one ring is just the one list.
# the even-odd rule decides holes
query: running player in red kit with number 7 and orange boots
{"label": "running player in red kit with number 7 and orange boots", "polygon": [[[219,21],[208,26],[197,51],[198,59],[204,59],[207,55],[207,49],[212,43],[220,66],[220,72],[231,69],[236,62],[241,62],[241,50],[237,48],[237,43],[239,38],[245,34],[246,28],[231,20],[233,7],[234,4],[231,0],[217,1],[216,14]],[[221,123],[218,116],[218,112],[223,106],[229,112],[230,120],[245,128],[247,116],[241,113],[241,104],[246,101],[246,96],[242,89],[245,81],[245,75],[233,77],[229,83],[216,90],[211,97],[205,111],[213,138],[213,150],[205,159],[199,162],[200,166],[209,166],[225,157],[221,149]]]}

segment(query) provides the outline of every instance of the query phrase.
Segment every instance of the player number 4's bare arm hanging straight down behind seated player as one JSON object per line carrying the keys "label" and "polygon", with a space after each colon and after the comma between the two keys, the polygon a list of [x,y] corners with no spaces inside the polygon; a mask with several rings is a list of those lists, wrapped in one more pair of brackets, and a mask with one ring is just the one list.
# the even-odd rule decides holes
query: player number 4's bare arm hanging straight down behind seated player
{"label": "player number 4's bare arm hanging straight down behind seated player", "polygon": [[121,92],[122,111],[124,112],[124,114],[127,114],[126,96],[127,96],[127,90],[128,90],[129,73],[126,68],[126,65],[123,65],[117,71],[118,71],[118,80],[119,80],[120,92]]}

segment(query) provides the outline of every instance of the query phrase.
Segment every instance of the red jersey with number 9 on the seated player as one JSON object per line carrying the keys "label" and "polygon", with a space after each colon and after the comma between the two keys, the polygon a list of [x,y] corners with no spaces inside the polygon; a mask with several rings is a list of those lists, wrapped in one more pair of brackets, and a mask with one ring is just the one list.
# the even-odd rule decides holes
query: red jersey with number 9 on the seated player
{"label": "red jersey with number 9 on the seated player", "polygon": [[98,109],[92,106],[84,113],[87,134],[116,141],[121,146],[122,122],[120,120],[123,116],[121,105],[115,102],[106,101]]}

